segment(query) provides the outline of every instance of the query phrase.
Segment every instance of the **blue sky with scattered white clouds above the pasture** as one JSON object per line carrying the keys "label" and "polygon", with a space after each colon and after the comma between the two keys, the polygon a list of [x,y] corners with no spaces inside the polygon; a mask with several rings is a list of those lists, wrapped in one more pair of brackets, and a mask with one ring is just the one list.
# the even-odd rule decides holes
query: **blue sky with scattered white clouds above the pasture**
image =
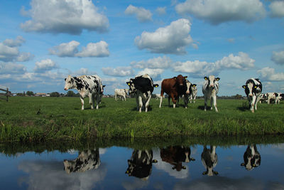
{"label": "blue sky with scattered white clouds above the pasture", "polygon": [[[197,84],[219,77],[219,95],[284,93],[284,1],[0,0],[0,87],[66,93],[68,75],[99,75],[104,94],[148,75]],[[160,86],[153,93],[160,93]]]}

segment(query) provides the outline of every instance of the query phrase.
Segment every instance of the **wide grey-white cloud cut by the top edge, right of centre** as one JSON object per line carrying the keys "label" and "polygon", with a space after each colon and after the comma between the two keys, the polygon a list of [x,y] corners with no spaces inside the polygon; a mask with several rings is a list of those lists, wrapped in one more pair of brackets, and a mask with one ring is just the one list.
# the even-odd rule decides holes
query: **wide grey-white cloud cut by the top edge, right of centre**
{"label": "wide grey-white cloud cut by the top edge, right of centre", "polygon": [[227,21],[251,23],[262,19],[266,10],[259,0],[187,0],[175,6],[178,14],[192,14],[214,25]]}

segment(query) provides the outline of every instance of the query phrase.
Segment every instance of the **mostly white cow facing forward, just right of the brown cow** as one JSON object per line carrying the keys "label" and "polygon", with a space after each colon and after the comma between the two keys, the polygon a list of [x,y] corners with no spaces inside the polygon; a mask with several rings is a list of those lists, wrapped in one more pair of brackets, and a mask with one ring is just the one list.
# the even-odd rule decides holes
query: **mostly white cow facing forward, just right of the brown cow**
{"label": "mostly white cow facing forward, just right of the brown cow", "polygon": [[220,78],[215,78],[214,75],[209,75],[209,77],[204,77],[204,84],[202,87],[202,93],[204,95],[204,111],[207,109],[207,99],[210,99],[211,110],[213,109],[212,103],[214,104],[215,111],[217,109],[217,97],[216,95],[219,92],[219,83]]}

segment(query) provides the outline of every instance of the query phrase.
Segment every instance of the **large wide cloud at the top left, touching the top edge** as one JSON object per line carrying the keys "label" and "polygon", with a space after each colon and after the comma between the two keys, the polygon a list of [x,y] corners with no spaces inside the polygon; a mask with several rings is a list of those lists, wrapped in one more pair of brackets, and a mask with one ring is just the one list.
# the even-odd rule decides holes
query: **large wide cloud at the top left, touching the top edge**
{"label": "large wide cloud at the top left, touching the top edge", "polygon": [[78,35],[87,31],[105,32],[109,20],[100,14],[89,0],[32,0],[31,9],[21,11],[31,20],[21,23],[24,31],[42,33],[70,33]]}

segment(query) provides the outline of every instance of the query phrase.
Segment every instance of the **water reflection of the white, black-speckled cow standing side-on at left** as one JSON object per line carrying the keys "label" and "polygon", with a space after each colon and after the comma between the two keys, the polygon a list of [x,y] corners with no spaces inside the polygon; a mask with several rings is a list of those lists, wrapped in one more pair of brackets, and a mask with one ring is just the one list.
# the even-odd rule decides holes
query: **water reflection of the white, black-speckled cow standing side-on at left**
{"label": "water reflection of the white, black-speckled cow standing side-on at left", "polygon": [[97,169],[101,164],[99,159],[99,149],[88,149],[80,152],[77,159],[64,160],[64,169],[67,174],[71,172],[84,172],[90,169]]}

